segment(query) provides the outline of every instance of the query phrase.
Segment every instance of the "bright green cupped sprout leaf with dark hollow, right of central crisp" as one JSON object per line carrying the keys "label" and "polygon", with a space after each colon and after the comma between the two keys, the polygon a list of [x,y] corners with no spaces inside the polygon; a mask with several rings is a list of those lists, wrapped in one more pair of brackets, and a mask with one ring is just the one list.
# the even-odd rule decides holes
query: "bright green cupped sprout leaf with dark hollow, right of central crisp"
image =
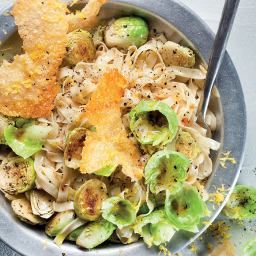
{"label": "bright green cupped sprout leaf with dark hollow, right of central crisp", "polygon": [[129,113],[130,128],[142,144],[166,144],[173,140],[179,127],[177,114],[157,100],[141,102]]}

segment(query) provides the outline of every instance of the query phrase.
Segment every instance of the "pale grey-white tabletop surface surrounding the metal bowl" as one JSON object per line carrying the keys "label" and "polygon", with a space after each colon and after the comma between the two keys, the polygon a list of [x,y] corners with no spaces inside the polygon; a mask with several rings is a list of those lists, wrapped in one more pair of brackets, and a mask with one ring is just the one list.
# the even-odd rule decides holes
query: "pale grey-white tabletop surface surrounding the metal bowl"
{"label": "pale grey-white tabletop surface surrounding the metal bowl", "polygon": [[[140,1],[140,0],[138,0]],[[161,0],[157,0],[161,1]],[[220,20],[221,11],[223,8],[224,0],[181,0],[194,12],[196,12],[216,33],[218,29],[218,22]],[[11,0],[0,0],[0,9],[7,4],[12,3]],[[0,31],[1,33],[1,31]],[[246,151],[244,157],[243,168],[237,184],[256,186],[256,1],[255,0],[241,0],[239,9],[237,11],[236,20],[230,35],[227,45],[227,51],[230,54],[234,65],[243,85],[244,97],[246,101],[247,117],[248,117],[248,133],[246,141]],[[227,88],[228,90],[228,88]],[[232,104],[232,103],[230,103]],[[225,172],[225,170],[223,170]],[[227,220],[222,214],[218,220]],[[241,248],[243,245],[256,236],[256,223],[255,218],[251,221],[244,221],[242,227],[237,225],[237,221],[231,223],[230,232],[232,234],[230,241],[235,244],[237,256],[241,255]],[[246,229],[246,230],[244,230]],[[6,234],[8,236],[8,234]],[[215,244],[216,241],[211,237],[206,237],[206,243]],[[15,243],[15,237],[13,237]],[[207,255],[205,247],[200,241],[196,241],[198,246],[198,255]],[[189,248],[185,248],[180,252],[183,256],[195,255],[190,252]],[[18,256],[19,254],[13,252],[10,248],[0,242],[0,255],[1,256]],[[138,255],[140,253],[138,252]],[[163,255],[163,254],[162,254]],[[31,252],[31,256],[33,252]],[[45,255],[48,256],[48,255]],[[61,253],[60,253],[61,256]],[[67,255],[68,256],[68,255]],[[99,255],[100,256],[100,255]],[[125,255],[124,255],[125,256]],[[156,255],[157,256],[157,255]]]}

